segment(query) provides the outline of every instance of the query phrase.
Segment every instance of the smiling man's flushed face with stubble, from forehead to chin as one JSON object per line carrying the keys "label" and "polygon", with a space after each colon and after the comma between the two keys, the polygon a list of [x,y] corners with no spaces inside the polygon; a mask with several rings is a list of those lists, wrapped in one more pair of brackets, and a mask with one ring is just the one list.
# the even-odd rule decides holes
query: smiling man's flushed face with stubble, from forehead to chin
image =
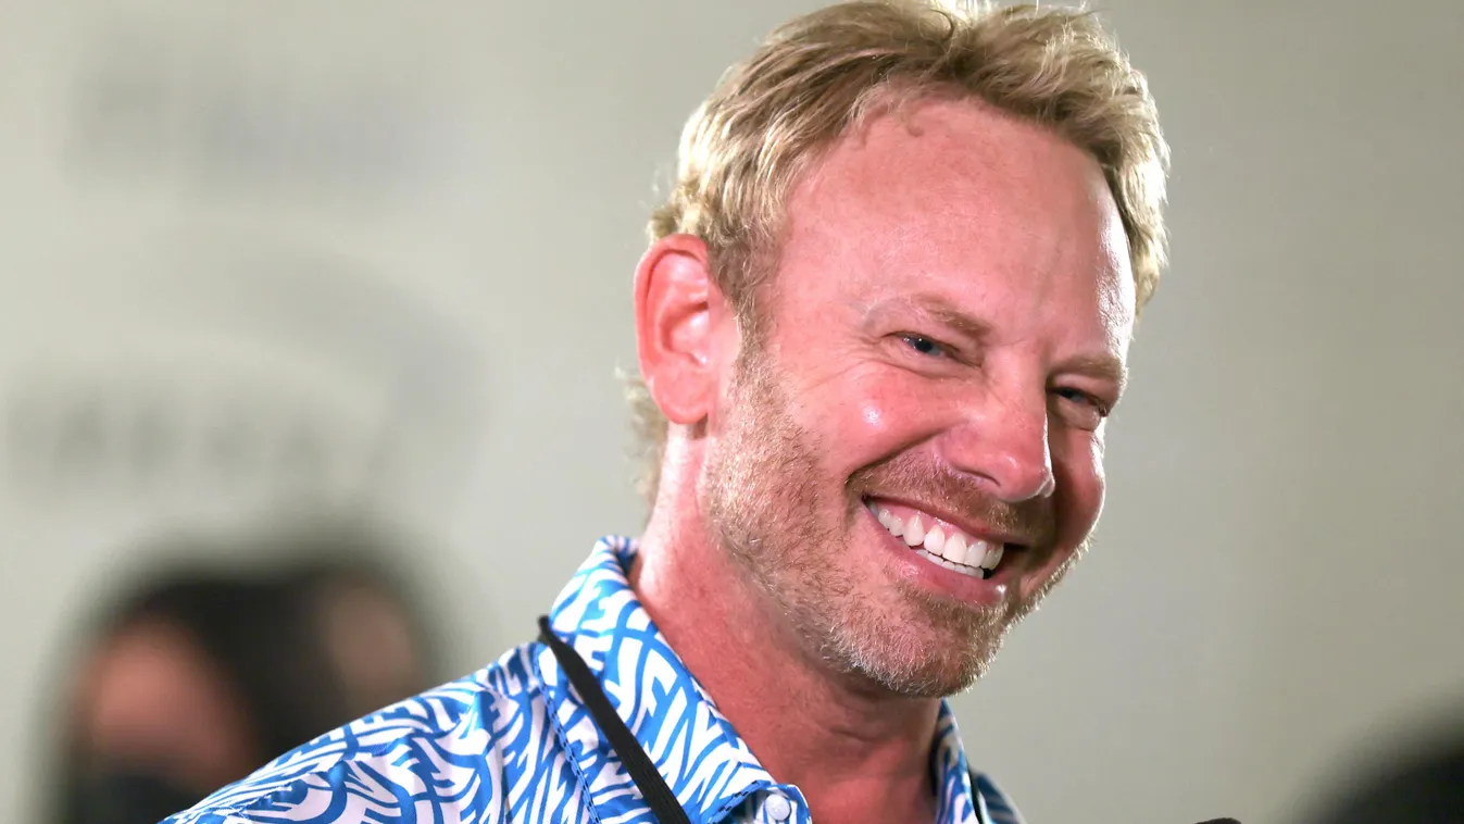
{"label": "smiling man's flushed face with stubble, from forehead to chin", "polygon": [[957,692],[1102,508],[1135,315],[1117,208],[1060,138],[930,102],[836,145],[788,221],[703,511],[805,653]]}

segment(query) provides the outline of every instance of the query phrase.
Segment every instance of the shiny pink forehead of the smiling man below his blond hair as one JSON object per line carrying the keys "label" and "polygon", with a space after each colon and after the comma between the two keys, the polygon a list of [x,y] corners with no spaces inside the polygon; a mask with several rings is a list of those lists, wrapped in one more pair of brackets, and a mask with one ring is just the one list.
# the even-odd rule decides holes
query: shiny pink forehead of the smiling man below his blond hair
{"label": "shiny pink forehead of the smiling man below his blond hair", "polygon": [[1102,170],[988,107],[873,117],[799,181],[788,221],[783,297],[858,307],[937,293],[998,335],[1127,347],[1129,246]]}

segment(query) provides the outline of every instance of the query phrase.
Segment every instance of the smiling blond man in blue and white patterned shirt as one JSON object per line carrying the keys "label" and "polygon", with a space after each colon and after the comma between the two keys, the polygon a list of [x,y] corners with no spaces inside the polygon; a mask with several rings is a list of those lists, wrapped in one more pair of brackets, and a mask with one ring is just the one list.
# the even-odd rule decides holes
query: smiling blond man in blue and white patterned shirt
{"label": "smiling blond man in blue and white patterned shirt", "polygon": [[1017,821],[943,697],[1098,518],[1164,162],[1088,15],[783,26],[635,274],[641,540],[540,641],[174,821]]}

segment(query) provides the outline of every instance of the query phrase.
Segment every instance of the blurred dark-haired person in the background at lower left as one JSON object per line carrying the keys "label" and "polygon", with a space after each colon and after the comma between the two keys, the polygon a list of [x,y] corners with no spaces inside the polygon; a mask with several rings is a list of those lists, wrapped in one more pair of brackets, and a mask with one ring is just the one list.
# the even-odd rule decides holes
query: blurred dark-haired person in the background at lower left
{"label": "blurred dark-haired person in the background at lower left", "polygon": [[[139,569],[64,688],[56,824],[151,824],[438,679],[410,588],[340,540]],[[170,555],[180,547],[170,546]]]}

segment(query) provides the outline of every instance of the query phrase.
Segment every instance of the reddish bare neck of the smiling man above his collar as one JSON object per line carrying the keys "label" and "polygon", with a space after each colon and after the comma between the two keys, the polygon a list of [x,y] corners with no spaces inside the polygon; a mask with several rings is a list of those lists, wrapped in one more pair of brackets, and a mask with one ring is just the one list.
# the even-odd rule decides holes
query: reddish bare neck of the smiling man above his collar
{"label": "reddish bare neck of the smiling man above his collar", "polygon": [[763,767],[799,787],[815,821],[931,821],[940,701],[834,672],[707,539],[694,508],[656,509],[631,585]]}

